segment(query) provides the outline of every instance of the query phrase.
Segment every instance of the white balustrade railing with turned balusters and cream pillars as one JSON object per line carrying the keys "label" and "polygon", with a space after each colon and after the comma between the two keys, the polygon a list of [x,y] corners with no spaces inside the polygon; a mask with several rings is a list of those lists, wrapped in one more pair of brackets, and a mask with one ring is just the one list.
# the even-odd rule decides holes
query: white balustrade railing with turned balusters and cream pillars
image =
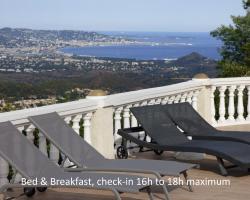
{"label": "white balustrade railing with turned balusters and cream pillars", "polygon": [[[35,127],[29,116],[57,112],[72,125],[77,134],[108,158],[114,158],[114,144],[120,142],[117,130],[138,125],[129,108],[153,104],[189,102],[213,126],[250,123],[250,77],[193,79],[174,85],[150,88],[62,104],[24,109],[0,114],[0,122],[11,121],[34,143]],[[82,122],[82,123],[80,123]],[[140,133],[144,134],[144,133]],[[59,150],[39,132],[39,149],[58,162]],[[148,138],[150,139],[150,138]],[[104,145],[105,141],[105,145]],[[11,148],[11,147],[10,147]],[[0,185],[9,180],[9,164],[0,158]],[[20,179],[20,175],[17,176]]]}

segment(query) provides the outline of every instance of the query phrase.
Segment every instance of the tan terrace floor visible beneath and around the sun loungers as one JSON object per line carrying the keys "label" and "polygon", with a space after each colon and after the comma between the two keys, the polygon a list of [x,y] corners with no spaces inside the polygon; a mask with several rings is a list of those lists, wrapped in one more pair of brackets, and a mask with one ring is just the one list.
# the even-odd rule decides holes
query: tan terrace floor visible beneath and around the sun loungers
{"label": "tan terrace floor visible beneath and around the sun loungers", "polygon": [[[241,125],[235,127],[226,127],[229,130],[250,130],[250,125]],[[173,153],[165,152],[161,156],[155,155],[153,152],[137,153],[134,158],[146,159],[173,159]],[[133,158],[132,158],[133,159]],[[197,163],[197,161],[196,161]],[[219,174],[216,160],[212,156],[206,156],[206,159],[198,161],[200,169],[192,169],[189,171],[191,179],[218,179],[230,180],[230,186],[194,186],[194,192],[189,192],[185,186],[169,188],[170,198],[172,200],[246,200],[250,197],[250,173],[234,168],[229,171],[229,176],[224,177]],[[14,193],[17,193],[15,191]],[[18,193],[17,193],[18,194]],[[124,200],[143,200],[148,199],[146,193],[140,194],[122,194]],[[156,189],[155,197],[162,199],[163,195],[160,190]],[[20,200],[26,200],[27,197],[20,197]],[[37,193],[32,199],[35,200],[98,200],[113,199],[112,193],[96,190],[82,189],[49,189],[45,193]]]}

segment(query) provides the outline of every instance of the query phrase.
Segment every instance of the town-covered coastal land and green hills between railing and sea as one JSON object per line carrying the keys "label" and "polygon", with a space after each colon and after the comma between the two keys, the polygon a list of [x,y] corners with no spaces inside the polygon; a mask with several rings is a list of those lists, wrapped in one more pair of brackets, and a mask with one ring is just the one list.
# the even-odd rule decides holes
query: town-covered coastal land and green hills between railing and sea
{"label": "town-covered coastal land and green hills between railing and sea", "polygon": [[0,111],[76,100],[100,87],[115,93],[180,82],[200,71],[217,75],[217,62],[195,52],[177,60],[136,60],[60,51],[136,44],[159,45],[96,32],[2,28]]}

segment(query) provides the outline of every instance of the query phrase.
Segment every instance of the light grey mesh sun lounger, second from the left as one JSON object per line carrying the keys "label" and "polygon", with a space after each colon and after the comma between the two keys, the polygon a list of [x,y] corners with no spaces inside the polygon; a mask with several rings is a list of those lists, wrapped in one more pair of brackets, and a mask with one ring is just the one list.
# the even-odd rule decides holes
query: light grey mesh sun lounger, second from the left
{"label": "light grey mesh sun lounger, second from the left", "polygon": [[[195,167],[194,164],[176,161],[106,159],[77,135],[57,113],[33,116],[29,120],[78,167],[155,174],[159,178],[183,174],[185,179],[187,179],[187,170]],[[191,187],[189,188],[191,190]]]}

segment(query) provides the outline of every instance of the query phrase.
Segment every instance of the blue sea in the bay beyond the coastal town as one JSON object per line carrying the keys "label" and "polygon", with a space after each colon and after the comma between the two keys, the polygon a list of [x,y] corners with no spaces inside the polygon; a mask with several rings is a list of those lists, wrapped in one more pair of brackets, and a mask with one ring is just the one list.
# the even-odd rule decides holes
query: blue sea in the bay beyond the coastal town
{"label": "blue sea in the bay beyond the coastal town", "polygon": [[174,60],[197,52],[211,59],[220,59],[222,42],[205,32],[101,32],[128,38],[143,44],[66,47],[64,53],[136,60]]}

